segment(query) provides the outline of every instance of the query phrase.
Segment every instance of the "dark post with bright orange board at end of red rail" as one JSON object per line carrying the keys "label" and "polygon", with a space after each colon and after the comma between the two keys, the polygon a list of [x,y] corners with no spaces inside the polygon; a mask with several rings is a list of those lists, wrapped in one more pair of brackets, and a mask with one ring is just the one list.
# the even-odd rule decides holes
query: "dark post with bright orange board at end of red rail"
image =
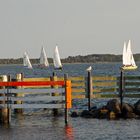
{"label": "dark post with bright orange board at end of red rail", "polygon": [[64,75],[65,80],[65,124],[68,124],[68,109],[72,107],[71,97],[71,81],[68,80],[68,75]]}

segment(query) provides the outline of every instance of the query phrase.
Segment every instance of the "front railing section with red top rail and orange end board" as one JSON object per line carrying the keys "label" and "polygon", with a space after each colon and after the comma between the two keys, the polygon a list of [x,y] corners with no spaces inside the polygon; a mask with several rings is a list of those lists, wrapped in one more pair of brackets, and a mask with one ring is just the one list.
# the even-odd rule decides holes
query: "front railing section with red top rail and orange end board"
{"label": "front railing section with red top rail and orange end board", "polygon": [[[55,86],[59,87],[55,88]],[[70,80],[1,81],[0,87],[0,120],[2,122],[10,122],[12,109],[61,108],[65,110],[65,123],[67,123],[68,109],[71,108]]]}

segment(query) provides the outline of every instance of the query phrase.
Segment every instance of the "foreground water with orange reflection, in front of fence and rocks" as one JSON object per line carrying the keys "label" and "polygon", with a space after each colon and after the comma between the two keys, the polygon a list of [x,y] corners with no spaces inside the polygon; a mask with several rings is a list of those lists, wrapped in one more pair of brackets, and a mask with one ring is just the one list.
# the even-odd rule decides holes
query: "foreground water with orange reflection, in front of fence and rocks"
{"label": "foreground water with orange reflection, in front of fence and rocks", "polygon": [[140,120],[107,120],[52,117],[47,111],[12,117],[8,126],[0,126],[0,140],[139,140]]}

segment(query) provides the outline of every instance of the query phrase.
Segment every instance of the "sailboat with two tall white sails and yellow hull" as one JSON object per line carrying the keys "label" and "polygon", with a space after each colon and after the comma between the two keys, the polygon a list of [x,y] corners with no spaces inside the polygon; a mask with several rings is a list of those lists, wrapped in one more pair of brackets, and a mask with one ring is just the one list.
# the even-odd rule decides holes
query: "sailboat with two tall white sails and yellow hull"
{"label": "sailboat with two tall white sails and yellow hull", "polygon": [[126,47],[126,43],[124,42],[124,47],[123,47],[123,70],[135,70],[137,69],[133,53],[131,51],[131,41],[128,41],[128,45]]}

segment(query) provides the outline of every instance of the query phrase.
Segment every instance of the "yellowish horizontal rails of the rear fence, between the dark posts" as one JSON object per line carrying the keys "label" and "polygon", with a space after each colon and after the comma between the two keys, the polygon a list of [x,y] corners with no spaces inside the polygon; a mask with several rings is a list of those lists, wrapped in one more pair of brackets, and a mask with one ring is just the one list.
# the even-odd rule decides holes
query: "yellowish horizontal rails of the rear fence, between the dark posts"
{"label": "yellowish horizontal rails of the rear fence, between the dark posts", "polygon": [[[68,78],[72,86],[72,98],[85,98],[87,94],[87,78],[84,76],[75,76]],[[140,76],[124,77],[125,95],[140,91]],[[24,81],[50,81],[50,78],[23,78]],[[63,77],[57,77],[57,80],[64,80]],[[115,76],[92,76],[92,96],[101,97],[102,94],[119,95],[120,77]]]}

